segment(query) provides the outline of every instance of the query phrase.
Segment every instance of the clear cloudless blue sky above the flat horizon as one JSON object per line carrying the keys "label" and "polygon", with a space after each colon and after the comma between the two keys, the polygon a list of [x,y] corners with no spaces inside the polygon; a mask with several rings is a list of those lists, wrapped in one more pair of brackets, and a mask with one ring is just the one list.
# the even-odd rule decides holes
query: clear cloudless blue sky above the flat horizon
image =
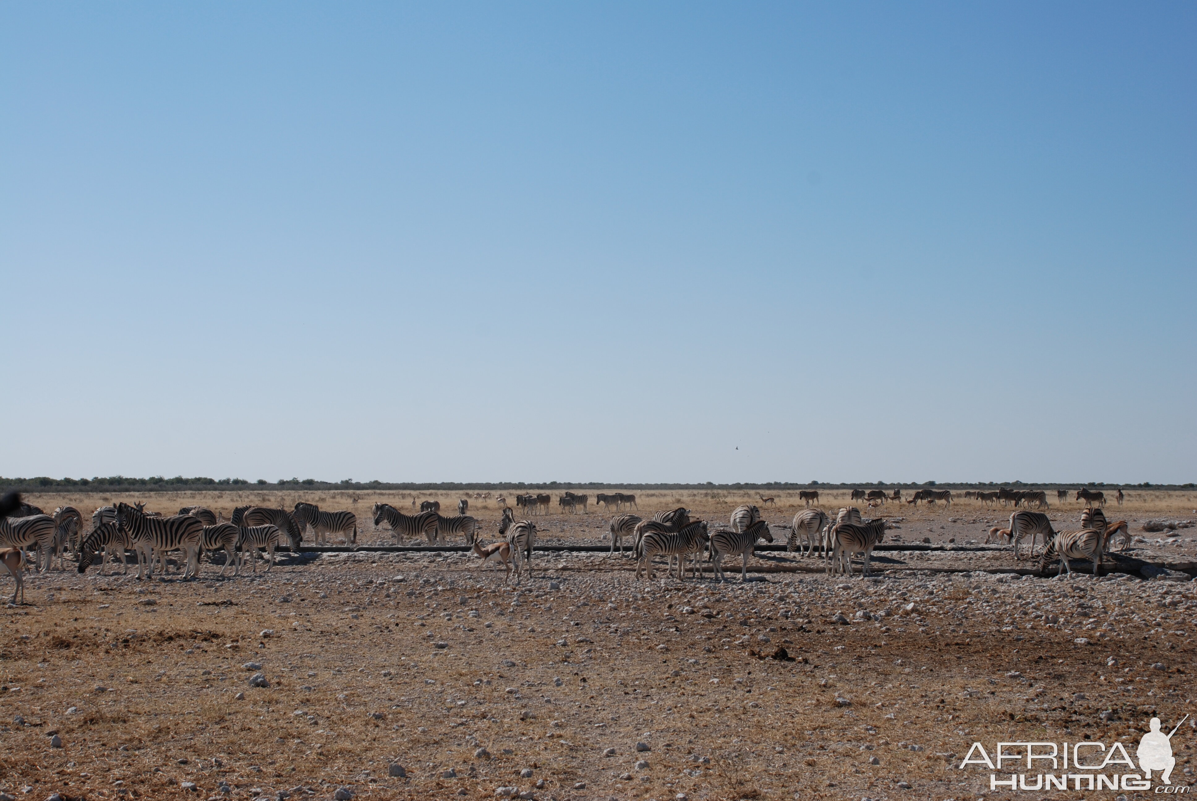
{"label": "clear cloudless blue sky above the flat horizon", "polygon": [[0,474],[1197,480],[1195,42],[0,5]]}

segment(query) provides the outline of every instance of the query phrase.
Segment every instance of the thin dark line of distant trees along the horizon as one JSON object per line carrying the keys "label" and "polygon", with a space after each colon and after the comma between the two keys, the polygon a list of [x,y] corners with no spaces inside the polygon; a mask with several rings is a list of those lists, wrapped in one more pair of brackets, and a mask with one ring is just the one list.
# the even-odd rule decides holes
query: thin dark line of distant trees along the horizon
{"label": "thin dark line of distant trees along the horizon", "polygon": [[525,490],[525,489],[549,489],[549,490],[604,490],[609,487],[625,490],[709,490],[715,492],[735,492],[741,490],[851,490],[858,487],[900,487],[917,489],[924,486],[937,486],[948,490],[973,490],[980,487],[1038,487],[1043,490],[1070,489],[1070,487],[1123,487],[1123,489],[1150,489],[1150,490],[1192,490],[1197,484],[1105,484],[1101,481],[1075,483],[1075,484],[1027,484],[1023,481],[980,481],[974,484],[924,481],[922,484],[903,481],[862,481],[857,484],[827,484],[824,481],[808,481],[798,484],[794,481],[767,481],[765,484],[736,483],[736,484],[619,484],[612,481],[476,481],[476,483],[411,483],[411,481],[354,481],[345,479],[342,481],[318,481],[316,479],[279,479],[267,481],[257,479],[209,479],[206,477],[186,478],[176,475],[168,479],[162,475],[150,478],[129,478],[127,475],[95,477],[90,479],[53,479],[47,475],[38,475],[30,479],[0,478],[0,490],[18,490],[22,492],[49,492],[54,490],[72,490],[77,492],[110,492],[120,490],[138,490],[140,492],[181,492],[188,490],[224,490],[224,489],[261,489],[261,490],[395,490],[406,492],[454,492],[466,490]]}

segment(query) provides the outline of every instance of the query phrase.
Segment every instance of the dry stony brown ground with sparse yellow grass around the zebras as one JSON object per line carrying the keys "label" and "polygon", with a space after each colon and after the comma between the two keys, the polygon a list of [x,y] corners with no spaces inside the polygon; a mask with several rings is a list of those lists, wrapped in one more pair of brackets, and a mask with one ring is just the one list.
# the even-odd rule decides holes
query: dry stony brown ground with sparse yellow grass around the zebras
{"label": "dry stony brown ground with sparse yellow grass around the zebras", "polygon": [[[755,500],[637,494],[642,514],[686,505],[717,522]],[[369,520],[376,499],[411,503],[312,496],[358,512],[359,545],[389,541]],[[30,497],[85,517],[116,499],[139,498]],[[279,503],[255,492],[145,499],[226,517],[239,503]],[[282,499],[290,508],[299,496]],[[1051,503],[1057,528],[1074,527],[1080,505]],[[762,511],[788,523],[797,508],[785,494]],[[518,584],[468,553],[370,551],[285,556],[269,574],[260,565],[236,578],[206,562],[188,582],[139,582],[111,566],[30,575],[28,603],[4,609],[0,791],[37,801],[1013,797],[989,789],[988,770],[958,767],[972,742],[1119,740],[1134,754],[1153,715],[1171,728],[1197,712],[1195,584],[1178,575],[1197,568],[1193,493],[1131,492],[1111,505],[1138,540],[1134,562],[1096,579],[1081,563],[1070,578],[1055,568],[998,572],[1033,565],[968,544],[1009,509],[870,512],[894,520],[887,544],[943,547],[879,552],[870,578],[765,552],[751,563],[764,569],[755,581],[741,583],[737,569],[722,584],[661,569],[649,583],[628,558],[559,552],[537,553]],[[493,499],[472,499],[470,514],[493,539]],[[1154,518],[1178,528],[1144,532]],[[540,540],[602,545],[607,520],[594,504],[547,515]],[[785,535],[774,528],[778,542]],[[1143,563],[1175,572],[1148,581]],[[780,648],[792,661],[773,659]],[[268,686],[251,686],[255,674]],[[1192,722],[1172,740],[1177,785],[1193,782]]]}

